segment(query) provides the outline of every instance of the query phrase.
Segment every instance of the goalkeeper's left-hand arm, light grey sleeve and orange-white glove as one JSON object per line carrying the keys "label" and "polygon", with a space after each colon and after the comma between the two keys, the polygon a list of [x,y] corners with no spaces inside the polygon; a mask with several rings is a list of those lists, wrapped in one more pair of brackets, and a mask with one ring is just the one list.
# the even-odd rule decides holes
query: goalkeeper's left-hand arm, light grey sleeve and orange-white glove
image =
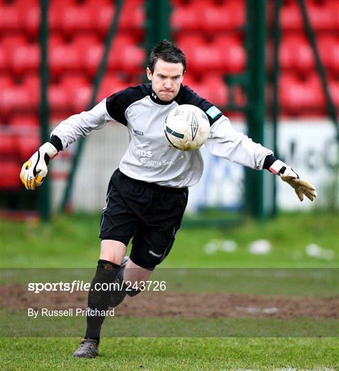
{"label": "goalkeeper's left-hand arm, light grey sleeve and orange-white glove", "polygon": [[103,128],[113,118],[107,112],[106,99],[94,106],[90,111],[72,115],[58,124],[51,133],[50,142],[43,144],[23,164],[20,179],[28,190],[35,190],[41,186],[48,172],[50,159],[58,155],[76,141],[79,137],[86,137],[92,130]]}

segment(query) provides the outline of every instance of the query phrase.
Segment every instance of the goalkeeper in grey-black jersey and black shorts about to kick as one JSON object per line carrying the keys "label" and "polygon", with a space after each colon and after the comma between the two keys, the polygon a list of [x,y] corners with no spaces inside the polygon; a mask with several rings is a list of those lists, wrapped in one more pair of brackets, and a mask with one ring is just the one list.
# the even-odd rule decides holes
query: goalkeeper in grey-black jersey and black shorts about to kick
{"label": "goalkeeper in grey-black jersey and black shorts about to kick", "polygon": [[[107,190],[107,204],[100,223],[101,251],[96,275],[88,295],[87,330],[76,357],[96,357],[100,329],[109,305],[117,306],[126,291],[124,282],[146,281],[166,258],[182,222],[188,188],[203,171],[199,150],[180,151],[164,135],[166,115],[179,104],[202,109],[210,122],[206,147],[214,155],[250,168],[270,172],[287,181],[300,201],[316,197],[314,186],[299,179],[290,166],[274,158],[272,150],[234,131],[230,120],[216,106],[182,85],[186,58],[170,41],[160,41],[151,52],[146,69],[150,84],[129,87],[102,100],[93,109],[72,115],[54,128],[50,142],[43,144],[23,164],[21,180],[28,190],[41,186],[50,159],[92,130],[109,121],[127,126],[129,147],[113,172]],[[131,254],[125,256],[129,240]],[[122,282],[120,291],[104,291],[101,284]]]}

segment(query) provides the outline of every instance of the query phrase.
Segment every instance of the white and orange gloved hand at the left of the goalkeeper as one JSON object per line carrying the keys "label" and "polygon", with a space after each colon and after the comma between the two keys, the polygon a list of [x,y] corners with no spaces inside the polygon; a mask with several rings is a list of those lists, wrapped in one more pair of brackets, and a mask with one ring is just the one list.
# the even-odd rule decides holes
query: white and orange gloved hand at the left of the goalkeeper
{"label": "white and orange gloved hand at the left of the goalkeeper", "polygon": [[35,190],[41,186],[48,172],[48,163],[57,154],[58,151],[53,144],[46,142],[23,164],[20,179],[27,190]]}

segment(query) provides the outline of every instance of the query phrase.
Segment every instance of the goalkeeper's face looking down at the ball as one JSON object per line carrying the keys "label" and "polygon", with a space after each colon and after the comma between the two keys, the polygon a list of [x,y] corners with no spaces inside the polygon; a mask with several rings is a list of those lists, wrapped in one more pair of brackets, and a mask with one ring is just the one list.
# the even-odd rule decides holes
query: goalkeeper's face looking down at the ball
{"label": "goalkeeper's face looking down at the ball", "polygon": [[169,63],[158,59],[153,74],[149,67],[147,67],[146,72],[147,77],[152,82],[152,89],[158,98],[164,100],[164,102],[175,98],[184,78],[182,63]]}

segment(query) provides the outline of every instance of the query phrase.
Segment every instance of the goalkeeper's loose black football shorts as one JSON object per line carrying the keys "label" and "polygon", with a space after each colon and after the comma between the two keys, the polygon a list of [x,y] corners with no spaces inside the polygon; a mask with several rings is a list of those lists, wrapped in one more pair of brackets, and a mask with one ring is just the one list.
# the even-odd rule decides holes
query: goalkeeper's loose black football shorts
{"label": "goalkeeper's loose black football shorts", "polygon": [[167,188],[131,179],[116,170],[102,210],[102,240],[129,244],[130,258],[140,267],[154,269],[166,256],[182,223],[188,188]]}

